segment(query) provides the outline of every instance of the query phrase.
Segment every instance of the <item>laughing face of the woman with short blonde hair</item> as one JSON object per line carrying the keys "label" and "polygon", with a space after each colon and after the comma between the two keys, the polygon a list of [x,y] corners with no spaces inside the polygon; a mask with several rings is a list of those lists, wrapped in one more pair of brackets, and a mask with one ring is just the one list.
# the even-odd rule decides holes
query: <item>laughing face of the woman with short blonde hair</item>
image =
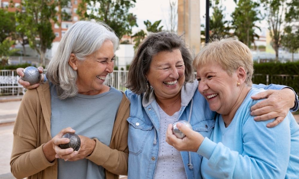
{"label": "laughing face of the woman with short blonde hair", "polygon": [[228,114],[239,100],[238,75],[231,76],[217,63],[208,62],[197,67],[198,90],[206,98],[210,109]]}

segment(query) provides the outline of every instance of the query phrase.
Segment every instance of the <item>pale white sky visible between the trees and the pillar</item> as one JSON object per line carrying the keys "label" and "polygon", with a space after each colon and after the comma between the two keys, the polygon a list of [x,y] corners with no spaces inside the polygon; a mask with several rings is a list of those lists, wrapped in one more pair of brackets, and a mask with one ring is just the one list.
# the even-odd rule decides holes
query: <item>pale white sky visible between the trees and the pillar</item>
{"label": "pale white sky visible between the trees and the pillar", "polygon": [[[177,0],[170,0],[175,1]],[[205,24],[205,5],[206,0],[200,0],[200,23]],[[223,0],[223,6],[225,6],[225,19],[231,20],[231,13],[234,11],[236,4],[234,0]],[[167,26],[170,28],[169,23],[169,13],[170,13],[170,5],[169,0],[136,0],[135,7],[130,9],[130,12],[134,13],[137,17],[137,23],[139,27],[134,27],[133,33],[139,31],[140,29],[145,29],[145,25],[143,21],[149,20],[152,23],[157,20],[162,20],[161,25],[164,26],[164,30],[167,30]],[[210,8],[210,15],[212,14],[212,9]],[[262,24],[265,24],[263,22]],[[258,24],[260,27],[262,24]],[[265,26],[264,26],[265,27]],[[262,30],[262,31],[265,31]],[[265,32],[257,31],[257,34],[264,35]]]}

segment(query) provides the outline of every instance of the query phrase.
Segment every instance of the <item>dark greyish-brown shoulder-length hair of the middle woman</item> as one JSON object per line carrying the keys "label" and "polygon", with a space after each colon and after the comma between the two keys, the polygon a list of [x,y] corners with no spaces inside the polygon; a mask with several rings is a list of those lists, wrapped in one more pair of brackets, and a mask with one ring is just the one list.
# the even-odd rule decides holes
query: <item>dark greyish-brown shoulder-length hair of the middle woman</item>
{"label": "dark greyish-brown shoulder-length hair of the middle woman", "polygon": [[149,71],[152,58],[162,51],[172,52],[179,49],[185,65],[185,82],[194,79],[192,56],[181,36],[170,32],[150,34],[140,45],[128,73],[126,87],[136,94],[150,90],[149,82],[145,75]]}

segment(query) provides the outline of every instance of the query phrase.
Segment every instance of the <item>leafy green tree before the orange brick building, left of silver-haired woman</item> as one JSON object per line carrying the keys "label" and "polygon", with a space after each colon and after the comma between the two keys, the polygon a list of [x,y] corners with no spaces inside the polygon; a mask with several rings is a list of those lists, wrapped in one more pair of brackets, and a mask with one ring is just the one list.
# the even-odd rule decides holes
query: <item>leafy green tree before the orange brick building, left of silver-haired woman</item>
{"label": "leafy green tree before the orange brick building, left of silver-haired woman", "polygon": [[[25,31],[29,45],[40,55],[40,64],[45,64],[45,53],[51,48],[55,34],[51,21],[57,22],[58,0],[23,0],[26,13],[16,16],[18,28]],[[21,14],[21,13],[20,13]]]}

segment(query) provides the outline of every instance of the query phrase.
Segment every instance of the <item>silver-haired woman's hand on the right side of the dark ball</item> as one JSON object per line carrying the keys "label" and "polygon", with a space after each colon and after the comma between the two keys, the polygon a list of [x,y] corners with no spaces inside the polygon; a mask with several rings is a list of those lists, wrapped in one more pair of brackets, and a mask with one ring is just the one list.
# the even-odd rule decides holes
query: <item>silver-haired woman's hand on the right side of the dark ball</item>
{"label": "silver-haired woman's hand on the right side of the dark ball", "polygon": [[88,138],[86,136],[83,135],[78,135],[80,137],[81,140],[81,147],[79,149],[79,153],[77,155],[75,155],[73,158],[69,159],[68,161],[77,161],[77,160],[81,160],[87,156],[89,156],[95,147],[96,142],[94,140],[92,140],[91,138]]}

